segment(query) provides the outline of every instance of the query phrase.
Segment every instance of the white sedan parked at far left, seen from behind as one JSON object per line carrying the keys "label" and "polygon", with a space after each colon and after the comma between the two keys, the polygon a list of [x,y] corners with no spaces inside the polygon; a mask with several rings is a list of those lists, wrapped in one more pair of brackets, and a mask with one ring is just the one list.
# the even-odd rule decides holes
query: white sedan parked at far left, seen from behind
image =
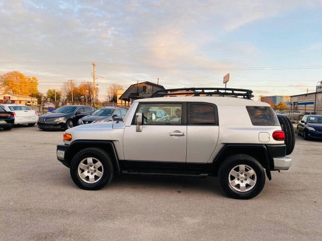
{"label": "white sedan parked at far left, seen from behind", "polygon": [[36,110],[29,108],[26,105],[22,104],[2,104],[0,107],[3,107],[7,111],[11,111],[15,116],[15,125],[24,125],[34,126],[38,121],[38,113]]}

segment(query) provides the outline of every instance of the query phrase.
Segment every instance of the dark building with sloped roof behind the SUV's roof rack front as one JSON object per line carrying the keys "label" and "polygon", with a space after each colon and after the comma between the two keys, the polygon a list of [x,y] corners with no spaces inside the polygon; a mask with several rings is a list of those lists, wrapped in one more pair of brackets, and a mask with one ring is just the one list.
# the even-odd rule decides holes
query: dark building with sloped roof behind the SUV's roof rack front
{"label": "dark building with sloped roof behind the SUV's roof rack front", "polygon": [[156,90],[165,89],[162,85],[154,84],[149,81],[130,85],[127,90],[118,98],[124,103],[132,103],[136,99],[148,98]]}

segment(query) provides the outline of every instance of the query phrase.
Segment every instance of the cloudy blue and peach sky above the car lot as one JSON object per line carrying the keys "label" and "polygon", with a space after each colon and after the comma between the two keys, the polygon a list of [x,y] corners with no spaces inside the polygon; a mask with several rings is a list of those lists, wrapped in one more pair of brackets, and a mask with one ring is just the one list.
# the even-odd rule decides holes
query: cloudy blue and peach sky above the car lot
{"label": "cloudy blue and peach sky above the car lot", "polygon": [[166,88],[314,91],[322,80],[322,0],[3,1],[0,74],[18,70],[39,90],[67,79]]}

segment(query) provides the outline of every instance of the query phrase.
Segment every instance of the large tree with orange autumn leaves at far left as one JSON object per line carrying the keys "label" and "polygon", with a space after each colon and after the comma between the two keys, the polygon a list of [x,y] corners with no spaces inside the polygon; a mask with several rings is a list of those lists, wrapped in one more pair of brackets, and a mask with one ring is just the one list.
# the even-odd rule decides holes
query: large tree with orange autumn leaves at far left
{"label": "large tree with orange autumn leaves at far left", "polygon": [[12,71],[0,76],[0,89],[12,94],[30,95],[35,97],[38,93],[38,79],[25,76],[19,71]]}

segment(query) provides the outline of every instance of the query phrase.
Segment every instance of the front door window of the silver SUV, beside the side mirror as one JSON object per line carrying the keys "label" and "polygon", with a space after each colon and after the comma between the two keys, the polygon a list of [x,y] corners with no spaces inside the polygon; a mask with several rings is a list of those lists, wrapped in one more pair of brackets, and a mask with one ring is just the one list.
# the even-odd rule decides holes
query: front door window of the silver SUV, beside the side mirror
{"label": "front door window of the silver SUV, beside the side mirror", "polygon": [[144,125],[181,125],[181,103],[140,103],[137,112],[143,114]]}

